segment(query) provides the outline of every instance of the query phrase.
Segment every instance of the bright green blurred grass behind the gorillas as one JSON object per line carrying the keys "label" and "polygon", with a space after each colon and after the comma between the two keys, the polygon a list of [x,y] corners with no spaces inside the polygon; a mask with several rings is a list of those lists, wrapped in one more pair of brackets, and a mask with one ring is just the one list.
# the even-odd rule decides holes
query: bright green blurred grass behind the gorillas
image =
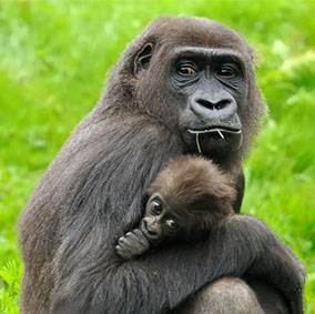
{"label": "bright green blurred grass behind the gorillas", "polygon": [[0,0],[0,313],[18,313],[19,212],[121,51],[162,14],[213,18],[257,51],[271,112],[246,164],[243,211],[302,259],[315,313],[315,1],[87,3]]}

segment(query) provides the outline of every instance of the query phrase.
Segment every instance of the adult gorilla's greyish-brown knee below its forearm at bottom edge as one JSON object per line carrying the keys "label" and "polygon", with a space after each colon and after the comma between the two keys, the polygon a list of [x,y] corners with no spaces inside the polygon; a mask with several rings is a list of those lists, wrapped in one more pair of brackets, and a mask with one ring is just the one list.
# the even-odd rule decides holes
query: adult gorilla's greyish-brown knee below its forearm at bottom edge
{"label": "adult gorilla's greyish-brown knee below its forearm at bottom edge", "polygon": [[182,305],[183,314],[264,314],[253,290],[240,278],[224,277]]}

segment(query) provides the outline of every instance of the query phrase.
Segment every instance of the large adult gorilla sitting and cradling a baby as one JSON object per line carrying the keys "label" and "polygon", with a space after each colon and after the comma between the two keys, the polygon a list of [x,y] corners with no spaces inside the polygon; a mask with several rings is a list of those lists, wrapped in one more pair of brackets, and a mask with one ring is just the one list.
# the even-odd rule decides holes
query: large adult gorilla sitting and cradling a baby
{"label": "large adult gorilla sitting and cradling a baby", "polygon": [[301,313],[303,269],[278,240],[257,236],[260,223],[232,225],[194,246],[176,244],[139,260],[123,261],[114,250],[139,222],[150,183],[181,154],[202,152],[228,171],[237,181],[238,211],[241,161],[263,111],[251,49],[238,34],[205,19],[151,24],[126,50],[104,98],[21,216],[22,313],[260,313],[262,306],[271,311],[270,300],[284,308],[262,284],[255,285],[262,306],[241,280],[210,284],[251,274],[261,254],[280,255],[266,280]]}

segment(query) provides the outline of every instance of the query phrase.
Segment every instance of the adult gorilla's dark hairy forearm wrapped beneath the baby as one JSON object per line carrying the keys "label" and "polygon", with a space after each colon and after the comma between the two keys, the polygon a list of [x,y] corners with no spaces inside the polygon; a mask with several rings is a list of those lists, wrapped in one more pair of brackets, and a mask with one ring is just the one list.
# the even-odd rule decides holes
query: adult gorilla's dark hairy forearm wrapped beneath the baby
{"label": "adult gorilla's dark hairy forearm wrapped beneath the baby", "polygon": [[[96,252],[90,246],[87,249],[95,257]],[[71,265],[75,256],[69,259],[63,265],[64,262]],[[270,259],[270,264],[265,262],[264,269],[257,270],[264,259]],[[81,273],[64,274],[60,270],[62,276],[53,297],[58,304],[67,296],[70,302],[67,306],[70,307],[65,307],[64,313],[71,313],[69,308],[73,306],[82,313],[163,313],[214,278],[242,276],[251,265],[253,275],[257,272],[292,303],[302,306],[302,294],[292,294],[303,285],[298,261],[264,224],[254,219],[231,221],[211,239],[193,247],[183,244],[164,247],[145,259],[125,263],[108,256],[105,264],[98,269],[89,266],[90,263],[91,259],[85,255],[77,264]],[[293,313],[302,313],[302,307]]]}

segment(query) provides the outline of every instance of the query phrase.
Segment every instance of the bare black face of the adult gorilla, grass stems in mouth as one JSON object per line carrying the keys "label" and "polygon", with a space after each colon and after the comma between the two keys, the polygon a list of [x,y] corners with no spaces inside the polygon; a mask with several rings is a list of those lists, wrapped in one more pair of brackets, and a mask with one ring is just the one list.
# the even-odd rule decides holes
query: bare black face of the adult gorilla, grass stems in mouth
{"label": "bare black face of the adult gorilla, grass stems in mouth", "polygon": [[[232,50],[181,48],[171,58],[170,87],[179,100],[179,126],[186,144],[203,153],[241,145],[238,108],[247,85],[245,64]],[[226,152],[227,153],[227,152]]]}

